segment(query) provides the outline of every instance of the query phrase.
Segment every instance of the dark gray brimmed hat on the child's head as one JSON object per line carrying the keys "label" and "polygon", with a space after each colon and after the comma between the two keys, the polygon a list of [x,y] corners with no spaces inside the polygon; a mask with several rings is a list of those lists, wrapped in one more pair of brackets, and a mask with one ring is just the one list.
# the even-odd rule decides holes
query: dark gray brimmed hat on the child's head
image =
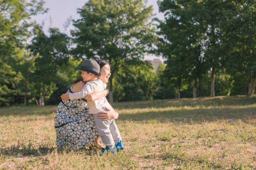
{"label": "dark gray brimmed hat on the child's head", "polygon": [[96,76],[100,76],[100,65],[92,59],[85,59],[80,67],[75,67],[78,70],[84,70],[95,74]]}

